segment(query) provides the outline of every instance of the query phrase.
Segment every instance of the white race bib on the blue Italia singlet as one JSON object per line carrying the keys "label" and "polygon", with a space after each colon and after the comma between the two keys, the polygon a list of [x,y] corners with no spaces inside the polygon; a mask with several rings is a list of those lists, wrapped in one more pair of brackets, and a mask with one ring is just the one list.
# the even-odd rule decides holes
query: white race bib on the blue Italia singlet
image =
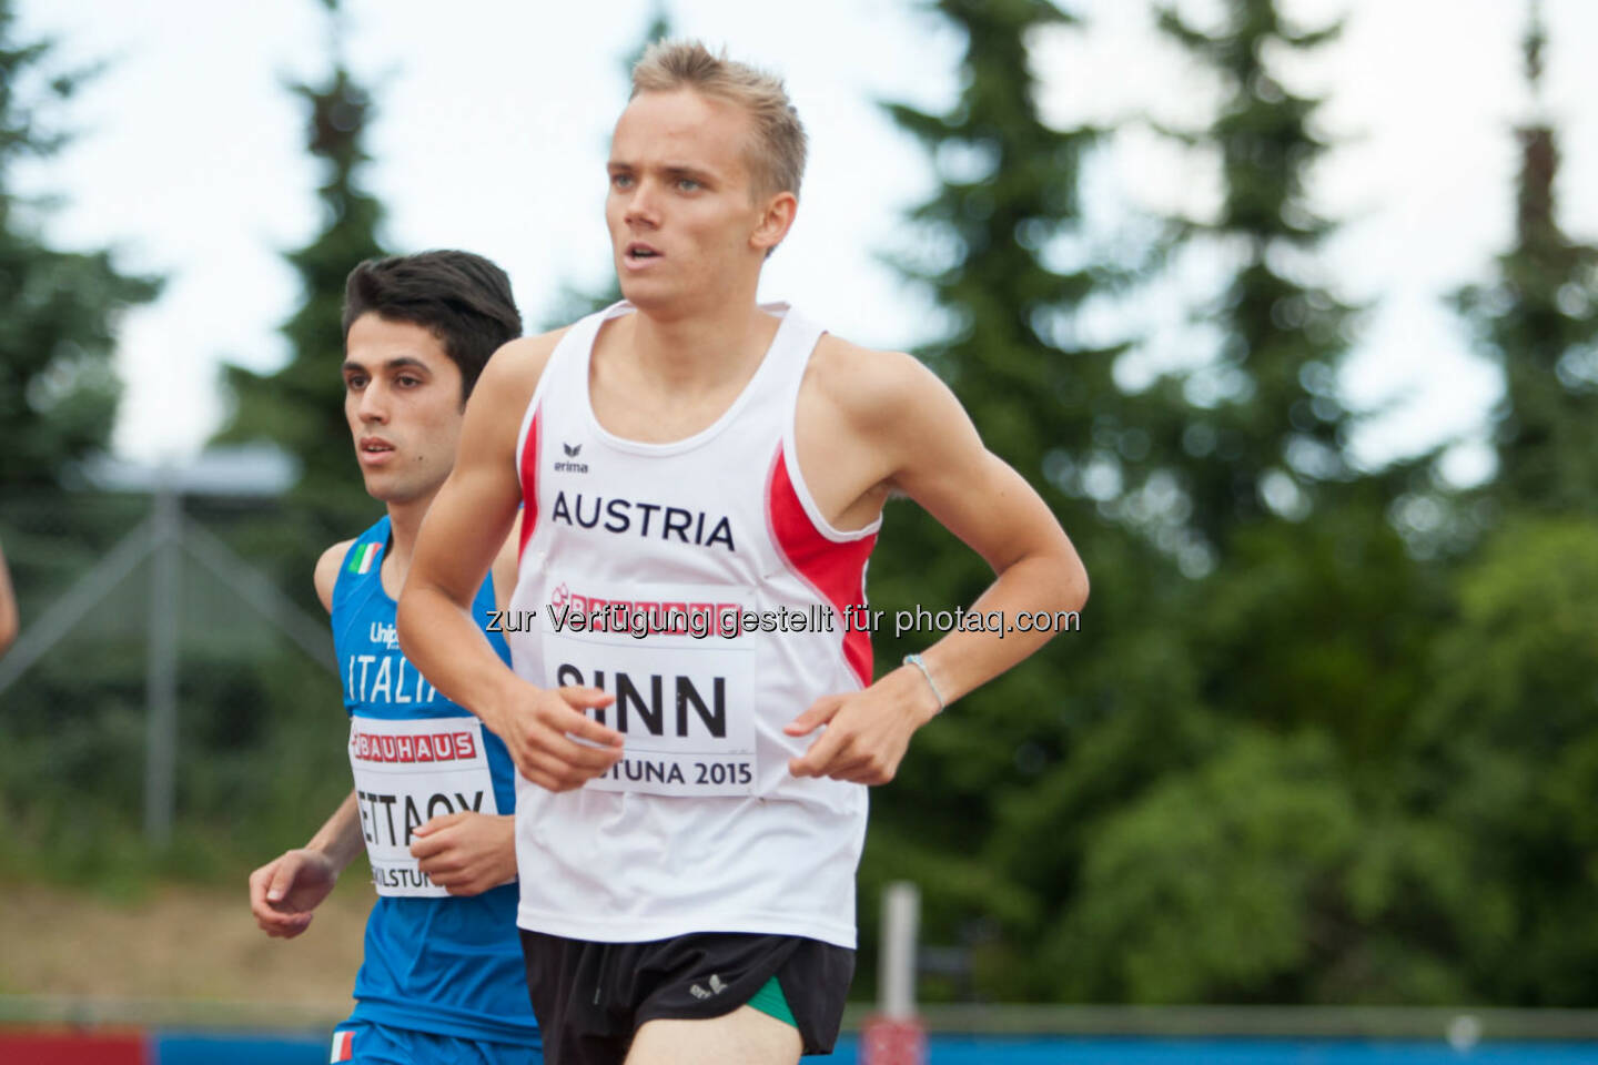
{"label": "white race bib on the blue Italia singlet", "polygon": [[499,813],[481,722],[352,717],[350,768],[377,894],[447,896],[411,857],[411,833],[441,814]]}

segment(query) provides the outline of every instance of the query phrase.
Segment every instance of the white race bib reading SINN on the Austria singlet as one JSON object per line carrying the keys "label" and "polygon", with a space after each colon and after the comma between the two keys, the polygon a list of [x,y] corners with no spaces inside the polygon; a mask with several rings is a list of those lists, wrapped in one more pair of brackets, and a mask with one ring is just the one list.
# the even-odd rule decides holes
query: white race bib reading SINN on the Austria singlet
{"label": "white race bib reading SINN on the Austria singlet", "polygon": [[[551,581],[553,583],[553,581]],[[626,752],[585,787],[649,795],[754,794],[754,648],[737,639],[733,589],[555,583],[540,613],[543,683],[593,687],[588,711]]]}

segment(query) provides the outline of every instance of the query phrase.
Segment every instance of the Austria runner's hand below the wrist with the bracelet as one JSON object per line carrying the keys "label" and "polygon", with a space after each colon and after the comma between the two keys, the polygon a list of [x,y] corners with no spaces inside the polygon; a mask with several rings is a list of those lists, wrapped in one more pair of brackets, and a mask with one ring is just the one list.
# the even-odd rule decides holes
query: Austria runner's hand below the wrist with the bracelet
{"label": "Austria runner's hand below the wrist with the bracelet", "polygon": [[826,730],[797,758],[794,776],[826,776],[855,784],[887,784],[916,730],[936,715],[936,699],[919,672],[900,669],[865,691],[825,695],[783,726],[789,736]]}

